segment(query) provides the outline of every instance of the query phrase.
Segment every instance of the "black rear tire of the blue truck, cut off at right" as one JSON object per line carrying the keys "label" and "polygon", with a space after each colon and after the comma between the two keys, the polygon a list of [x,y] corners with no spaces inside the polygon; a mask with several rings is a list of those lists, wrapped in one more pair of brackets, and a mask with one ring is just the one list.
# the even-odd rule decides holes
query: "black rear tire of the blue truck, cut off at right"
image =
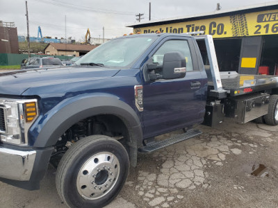
{"label": "black rear tire of the blue truck, cut off at right", "polygon": [[[275,114],[277,115],[275,118]],[[268,105],[268,114],[264,116],[265,123],[268,125],[278,124],[278,95],[270,96],[270,103]]]}

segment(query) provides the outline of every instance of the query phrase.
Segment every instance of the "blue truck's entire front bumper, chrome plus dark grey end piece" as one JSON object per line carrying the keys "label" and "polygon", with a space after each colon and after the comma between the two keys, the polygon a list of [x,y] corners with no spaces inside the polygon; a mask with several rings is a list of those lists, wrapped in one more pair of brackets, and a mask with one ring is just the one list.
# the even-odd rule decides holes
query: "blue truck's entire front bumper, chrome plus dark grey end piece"
{"label": "blue truck's entire front bumper, chrome plus dark grey end piece", "polygon": [[0,181],[22,189],[40,189],[53,150],[0,144]]}

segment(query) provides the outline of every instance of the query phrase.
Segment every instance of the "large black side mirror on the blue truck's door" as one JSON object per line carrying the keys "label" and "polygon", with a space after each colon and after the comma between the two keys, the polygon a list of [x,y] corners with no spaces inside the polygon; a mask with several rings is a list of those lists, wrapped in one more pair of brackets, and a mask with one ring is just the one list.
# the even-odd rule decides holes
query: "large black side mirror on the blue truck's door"
{"label": "large black side mirror on the blue truck's door", "polygon": [[162,74],[164,79],[176,79],[186,76],[186,58],[180,52],[164,54]]}

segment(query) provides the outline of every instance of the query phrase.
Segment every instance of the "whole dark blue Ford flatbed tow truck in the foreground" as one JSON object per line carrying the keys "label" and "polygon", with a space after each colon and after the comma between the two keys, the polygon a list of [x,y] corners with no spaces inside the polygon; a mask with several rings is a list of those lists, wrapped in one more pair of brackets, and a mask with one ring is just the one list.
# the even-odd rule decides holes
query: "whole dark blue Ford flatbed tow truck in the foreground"
{"label": "whole dark blue Ford flatbed tow truck in the foreground", "polygon": [[51,164],[67,206],[103,207],[138,152],[199,135],[197,124],[277,125],[277,87],[275,76],[220,74],[210,35],[128,35],[72,67],[0,73],[0,180],[39,189]]}

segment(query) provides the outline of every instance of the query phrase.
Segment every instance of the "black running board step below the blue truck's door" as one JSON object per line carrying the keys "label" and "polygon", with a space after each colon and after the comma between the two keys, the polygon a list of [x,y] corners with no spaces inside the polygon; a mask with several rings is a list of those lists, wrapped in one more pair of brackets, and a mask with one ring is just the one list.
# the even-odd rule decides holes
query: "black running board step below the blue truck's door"
{"label": "black running board step below the blue truck's door", "polygon": [[156,141],[152,144],[139,148],[139,152],[141,153],[151,153],[153,151],[159,150],[161,148],[165,148],[166,146],[170,146],[172,144],[176,144],[180,141],[184,141],[186,139],[190,139],[191,137],[195,137],[197,135],[201,135],[202,132],[200,130],[188,130],[188,132],[183,133],[182,135],[175,135],[169,139],[165,139],[163,141]]}

